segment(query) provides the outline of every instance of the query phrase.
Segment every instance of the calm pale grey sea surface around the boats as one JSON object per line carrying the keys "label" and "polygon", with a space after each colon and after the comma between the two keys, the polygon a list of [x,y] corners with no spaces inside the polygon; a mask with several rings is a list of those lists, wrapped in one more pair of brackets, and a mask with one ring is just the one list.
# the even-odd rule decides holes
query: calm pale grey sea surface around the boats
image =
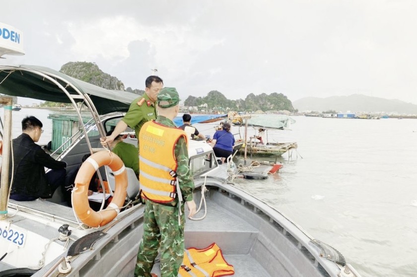
{"label": "calm pale grey sea surface around the boats", "polygon": [[[50,113],[57,111],[13,111],[13,137],[35,115],[44,123],[40,143],[48,143]],[[291,130],[268,131],[270,141],[298,143],[278,159],[284,167],[236,185],[338,249],[362,277],[417,276],[417,120],[293,118]],[[214,124],[195,126],[214,133]]]}

